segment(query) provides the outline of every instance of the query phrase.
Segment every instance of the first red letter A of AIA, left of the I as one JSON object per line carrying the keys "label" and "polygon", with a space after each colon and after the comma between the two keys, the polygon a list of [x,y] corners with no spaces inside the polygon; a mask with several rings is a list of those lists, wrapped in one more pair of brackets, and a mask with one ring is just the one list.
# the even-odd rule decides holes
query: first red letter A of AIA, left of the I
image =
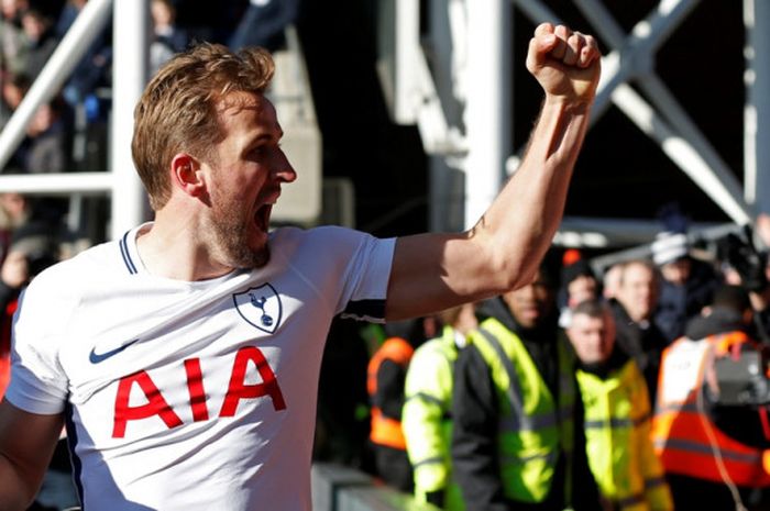
{"label": "first red letter A of AIA, left of the I", "polygon": [[[139,388],[142,389],[142,392],[144,392],[144,396],[147,398],[146,404],[139,407],[129,406],[131,388],[134,384],[139,385]],[[146,371],[140,370],[139,373],[121,378],[118,385],[118,396],[116,397],[112,437],[122,438],[125,435],[125,424],[128,421],[147,419],[153,415],[160,415],[169,430],[182,425],[182,419],[174,413],[174,410],[168,406]]]}

